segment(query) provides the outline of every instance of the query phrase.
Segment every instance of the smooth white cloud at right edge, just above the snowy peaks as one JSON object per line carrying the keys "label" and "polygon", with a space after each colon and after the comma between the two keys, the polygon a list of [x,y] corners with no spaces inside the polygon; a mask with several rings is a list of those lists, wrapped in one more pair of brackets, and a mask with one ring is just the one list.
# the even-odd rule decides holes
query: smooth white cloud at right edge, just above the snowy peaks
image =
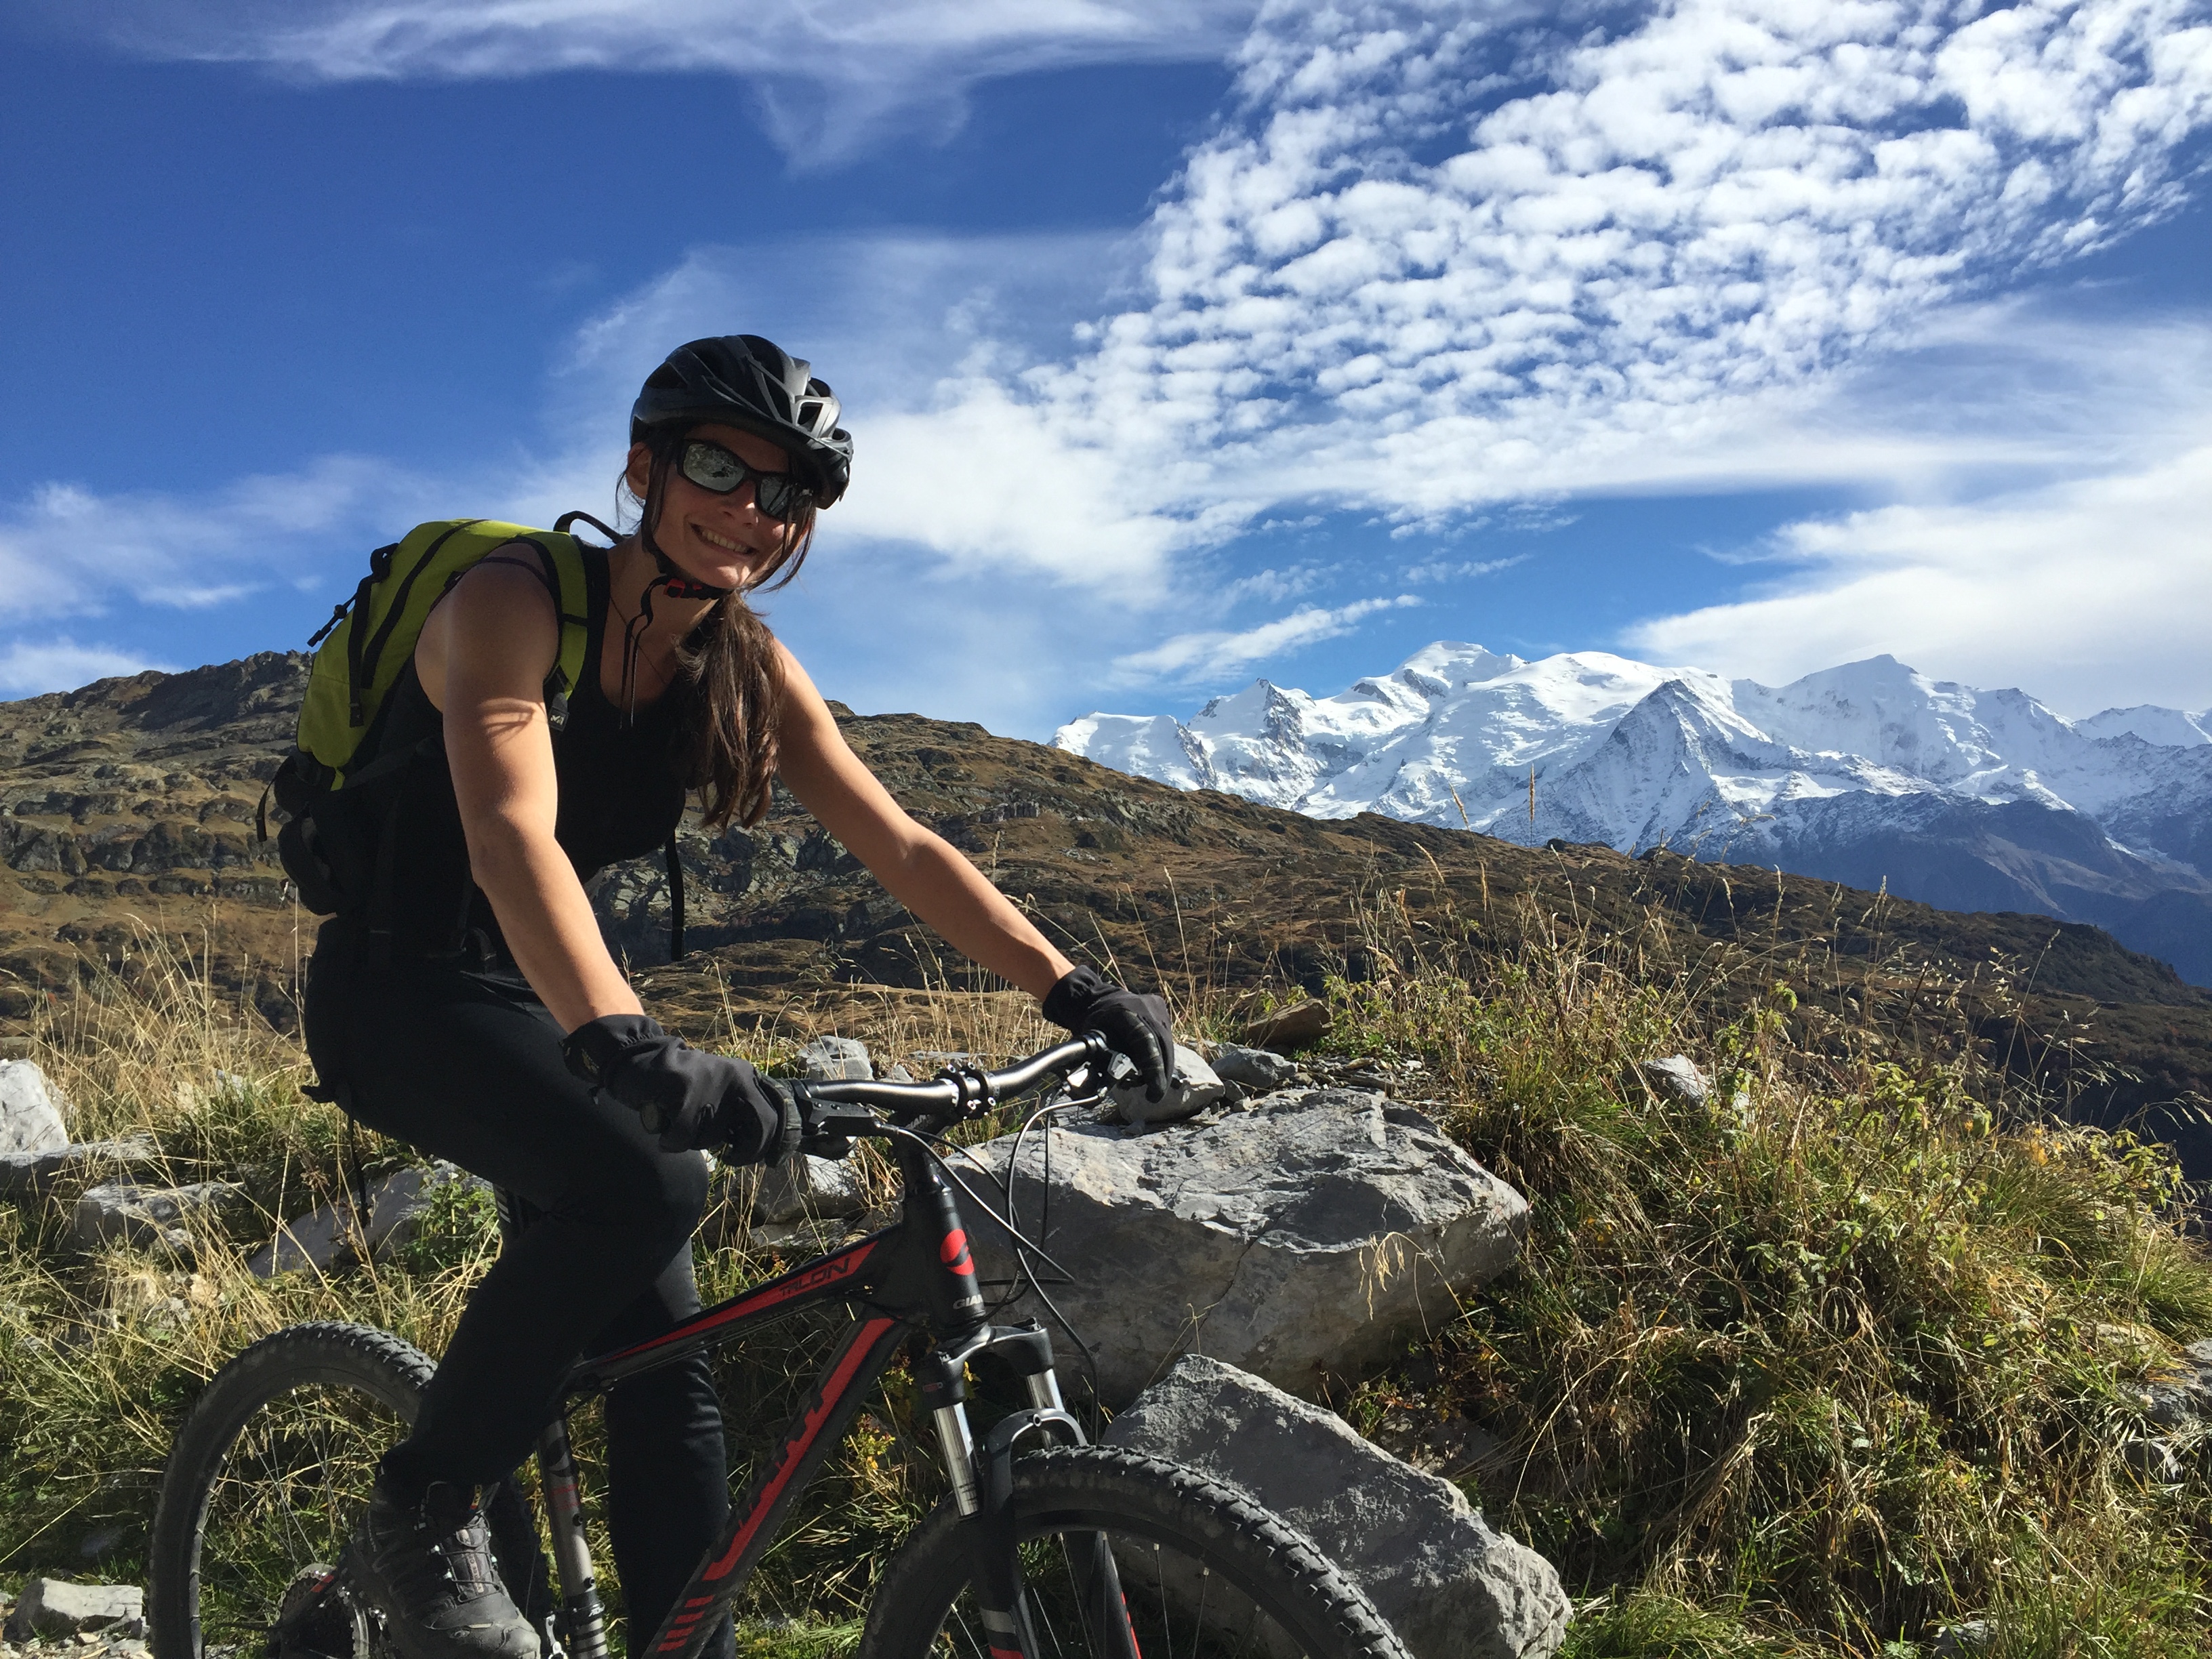
{"label": "smooth white cloud at right edge, just above the snowy peaks", "polygon": [[1767,684],[1891,653],[2066,714],[2212,703],[2212,420],[2159,467],[1947,507],[1805,520],[1778,591],[1655,617],[1628,644]]}

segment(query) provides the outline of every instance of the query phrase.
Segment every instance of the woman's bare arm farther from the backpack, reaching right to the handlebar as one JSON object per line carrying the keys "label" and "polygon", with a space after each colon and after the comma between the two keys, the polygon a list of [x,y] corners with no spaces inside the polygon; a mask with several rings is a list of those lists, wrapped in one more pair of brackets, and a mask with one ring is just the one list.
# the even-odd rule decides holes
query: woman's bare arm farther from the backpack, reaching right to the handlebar
{"label": "woman's bare arm farther from the backpack, reaching right to the handlebar", "polygon": [[1044,998],[1073,967],[982,872],[891,799],[845,743],[807,670],[781,644],[783,783],[885,889],[962,956]]}

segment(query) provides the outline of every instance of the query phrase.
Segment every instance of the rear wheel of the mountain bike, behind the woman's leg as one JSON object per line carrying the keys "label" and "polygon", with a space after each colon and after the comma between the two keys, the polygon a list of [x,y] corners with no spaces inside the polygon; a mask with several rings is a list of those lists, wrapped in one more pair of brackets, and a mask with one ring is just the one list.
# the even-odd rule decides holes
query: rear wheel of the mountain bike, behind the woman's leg
{"label": "rear wheel of the mountain bike, behind the woman's leg", "polygon": [[[369,1659],[376,1626],[332,1566],[431,1369],[389,1332],[327,1323],[263,1336],[215,1374],[161,1475],[148,1551],[157,1659]],[[509,1595],[542,1628],[544,1557],[515,1482],[484,1513]]]}

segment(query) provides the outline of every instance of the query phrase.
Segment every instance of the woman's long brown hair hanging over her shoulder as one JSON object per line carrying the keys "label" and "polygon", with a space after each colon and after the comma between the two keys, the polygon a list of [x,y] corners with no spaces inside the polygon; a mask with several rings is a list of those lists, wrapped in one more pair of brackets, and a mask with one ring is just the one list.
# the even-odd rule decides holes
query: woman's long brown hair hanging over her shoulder
{"label": "woman's long brown hair hanging over her shoulder", "polygon": [[[617,484],[617,509],[637,509],[639,529],[659,531],[668,495],[668,471],[688,427],[670,422],[648,431],[653,471],[646,500],[630,491],[628,473]],[[739,593],[717,599],[677,646],[679,697],[670,734],[677,776],[699,792],[708,830],[730,823],[754,825],[768,814],[776,781],[776,732],[783,723],[783,668],[776,637],[745,599],[774,591],[799,575],[814,546],[814,507],[783,526],[783,544],[761,573]],[[626,518],[624,513],[622,518]],[[617,518],[619,522],[619,518]]]}

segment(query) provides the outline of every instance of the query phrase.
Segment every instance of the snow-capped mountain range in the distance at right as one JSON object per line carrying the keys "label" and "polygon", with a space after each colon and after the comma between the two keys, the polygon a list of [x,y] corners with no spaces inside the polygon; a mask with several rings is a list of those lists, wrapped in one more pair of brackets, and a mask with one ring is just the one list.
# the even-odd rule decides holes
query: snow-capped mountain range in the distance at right
{"label": "snow-capped mountain range in the distance at right", "polygon": [[2097,922],[2212,984],[2212,710],[2068,721],[1893,657],[1761,686],[1438,641],[1336,697],[1256,679],[1188,721],[1086,714],[1053,741],[1321,818],[1666,843],[1949,909]]}

